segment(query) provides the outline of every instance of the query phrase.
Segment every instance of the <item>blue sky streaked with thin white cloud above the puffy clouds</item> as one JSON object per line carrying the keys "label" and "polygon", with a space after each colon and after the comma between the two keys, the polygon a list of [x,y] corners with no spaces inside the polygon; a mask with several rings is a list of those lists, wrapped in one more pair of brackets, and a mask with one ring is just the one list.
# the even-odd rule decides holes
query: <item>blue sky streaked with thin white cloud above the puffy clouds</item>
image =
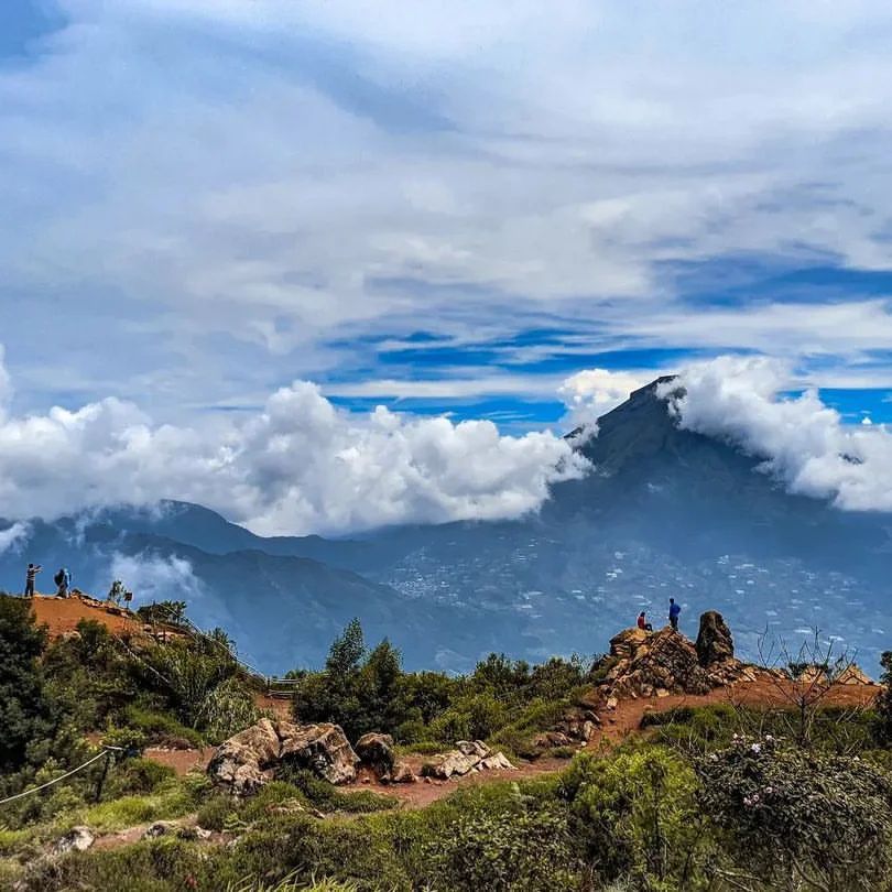
{"label": "blue sky streaked with thin white cloud above the puffy clouds", "polygon": [[559,429],[580,370],[736,353],[892,422],[892,15],[718,10],[2,4],[12,411]]}

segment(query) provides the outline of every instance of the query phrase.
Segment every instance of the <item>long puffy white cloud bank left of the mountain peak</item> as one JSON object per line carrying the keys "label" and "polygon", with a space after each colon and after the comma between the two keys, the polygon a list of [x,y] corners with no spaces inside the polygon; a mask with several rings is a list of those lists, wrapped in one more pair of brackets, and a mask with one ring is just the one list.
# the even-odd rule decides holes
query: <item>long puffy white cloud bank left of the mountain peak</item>
{"label": "long puffy white cloud bank left of the mountain peak", "polygon": [[383,407],[339,411],[297,381],[247,417],[154,424],[116,399],[0,423],[0,503],[13,518],[185,499],[260,533],[519,516],[585,460],[550,432],[500,435]]}

